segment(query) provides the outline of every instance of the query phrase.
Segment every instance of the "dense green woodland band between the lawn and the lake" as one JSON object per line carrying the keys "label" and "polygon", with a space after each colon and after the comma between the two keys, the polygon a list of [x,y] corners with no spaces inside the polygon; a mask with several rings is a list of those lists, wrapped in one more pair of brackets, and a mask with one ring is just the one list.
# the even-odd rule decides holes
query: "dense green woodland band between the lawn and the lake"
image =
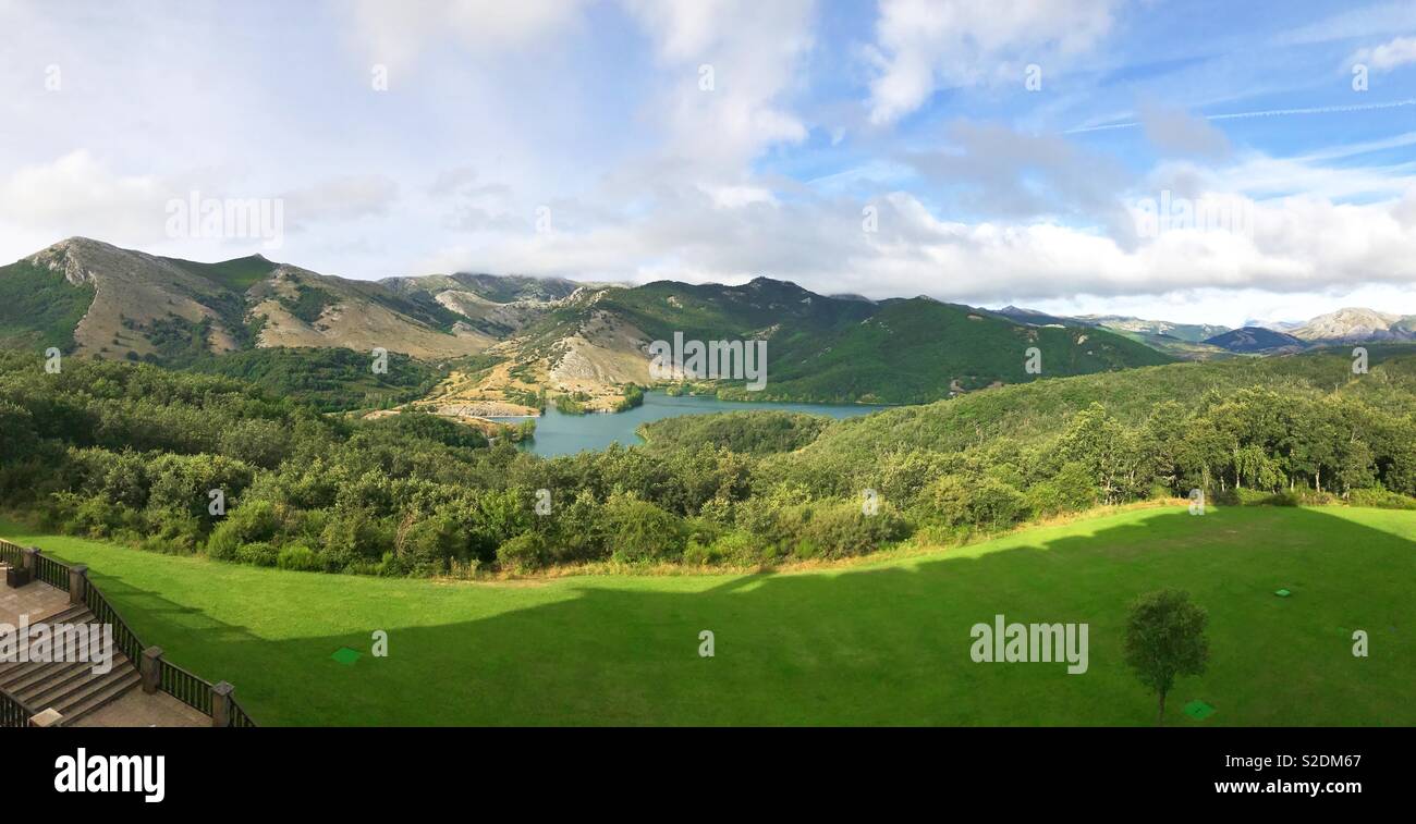
{"label": "dense green woodland band between the lawn and the lake", "polygon": [[0,496],[152,549],[382,575],[831,559],[1192,488],[1413,505],[1416,360],[1349,379],[1337,358],[1283,361],[841,422],[683,418],[649,447],[542,460],[428,415],[350,420],[225,377],[0,353]]}

